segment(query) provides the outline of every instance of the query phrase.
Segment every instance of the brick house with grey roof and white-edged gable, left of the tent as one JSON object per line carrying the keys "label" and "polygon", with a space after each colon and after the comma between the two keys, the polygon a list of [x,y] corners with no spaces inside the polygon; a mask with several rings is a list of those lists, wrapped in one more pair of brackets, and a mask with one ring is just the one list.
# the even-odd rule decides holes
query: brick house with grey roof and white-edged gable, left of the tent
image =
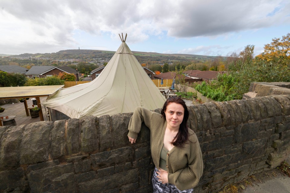
{"label": "brick house with grey roof and white-edged gable, left of the tent", "polygon": [[76,80],[79,80],[78,71],[68,66],[32,66],[25,75],[29,78],[46,78],[58,75],[60,72],[74,74]]}

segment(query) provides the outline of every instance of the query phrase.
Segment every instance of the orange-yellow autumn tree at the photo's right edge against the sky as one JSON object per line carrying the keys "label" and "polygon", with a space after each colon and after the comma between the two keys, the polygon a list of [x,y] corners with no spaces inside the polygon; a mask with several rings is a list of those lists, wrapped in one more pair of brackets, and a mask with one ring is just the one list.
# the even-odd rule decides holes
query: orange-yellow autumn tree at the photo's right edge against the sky
{"label": "orange-yellow autumn tree at the photo's right edge against the sky", "polygon": [[264,52],[256,56],[257,59],[288,65],[290,67],[290,33],[280,38],[273,38],[272,43],[265,44]]}

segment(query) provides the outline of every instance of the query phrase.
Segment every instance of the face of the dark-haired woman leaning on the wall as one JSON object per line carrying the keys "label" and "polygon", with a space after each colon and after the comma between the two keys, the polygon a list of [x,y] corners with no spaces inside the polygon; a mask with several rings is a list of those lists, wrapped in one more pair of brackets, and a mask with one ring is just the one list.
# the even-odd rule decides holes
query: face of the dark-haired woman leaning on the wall
{"label": "face of the dark-haired woman leaning on the wall", "polygon": [[179,129],[184,116],[184,108],[178,103],[169,103],[165,111],[167,125],[172,129]]}

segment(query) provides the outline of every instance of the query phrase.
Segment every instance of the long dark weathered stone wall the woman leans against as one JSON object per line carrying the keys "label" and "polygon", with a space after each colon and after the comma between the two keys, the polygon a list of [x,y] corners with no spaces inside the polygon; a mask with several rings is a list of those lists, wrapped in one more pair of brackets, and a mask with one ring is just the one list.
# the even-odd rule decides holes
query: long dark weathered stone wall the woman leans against
{"label": "long dark weathered stone wall the woman leans against", "polygon": [[[290,152],[290,95],[188,108],[204,161],[194,192],[271,169]],[[149,130],[130,144],[131,115],[0,127],[0,192],[152,192]]]}

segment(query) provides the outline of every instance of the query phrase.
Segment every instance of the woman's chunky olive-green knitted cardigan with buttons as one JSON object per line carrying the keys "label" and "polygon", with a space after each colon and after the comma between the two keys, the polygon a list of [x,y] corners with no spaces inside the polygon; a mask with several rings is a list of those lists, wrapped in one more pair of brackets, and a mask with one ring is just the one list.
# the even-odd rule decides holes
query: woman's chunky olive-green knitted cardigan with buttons
{"label": "woman's chunky olive-green knitted cardigan with buttons", "polygon": [[[137,107],[130,119],[128,136],[137,139],[142,122],[150,129],[150,148],[153,162],[159,169],[160,152],[163,146],[166,119],[161,114]],[[168,182],[179,190],[195,187],[203,172],[203,162],[196,134],[188,129],[188,140],[183,147],[174,146],[166,157]]]}

